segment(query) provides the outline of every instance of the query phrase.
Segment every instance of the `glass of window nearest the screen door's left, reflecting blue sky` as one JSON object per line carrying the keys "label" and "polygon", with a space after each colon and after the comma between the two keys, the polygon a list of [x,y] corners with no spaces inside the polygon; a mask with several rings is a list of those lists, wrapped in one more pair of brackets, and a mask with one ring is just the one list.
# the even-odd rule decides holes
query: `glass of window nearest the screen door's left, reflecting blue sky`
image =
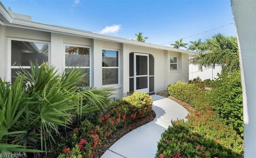
{"label": "glass of window nearest the screen door's left, reflecting blue sky", "polygon": [[118,84],[118,51],[102,50],[102,85]]}

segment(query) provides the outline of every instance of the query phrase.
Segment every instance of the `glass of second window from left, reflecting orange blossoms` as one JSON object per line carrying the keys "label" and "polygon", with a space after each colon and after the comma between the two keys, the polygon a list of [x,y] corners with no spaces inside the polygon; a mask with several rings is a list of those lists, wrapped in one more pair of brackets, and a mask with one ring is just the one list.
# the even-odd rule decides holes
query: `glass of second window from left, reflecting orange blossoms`
{"label": "glass of second window from left, reflecting orange blossoms", "polygon": [[86,76],[83,84],[90,85],[90,47],[65,45],[65,69],[68,71],[72,67],[84,69]]}

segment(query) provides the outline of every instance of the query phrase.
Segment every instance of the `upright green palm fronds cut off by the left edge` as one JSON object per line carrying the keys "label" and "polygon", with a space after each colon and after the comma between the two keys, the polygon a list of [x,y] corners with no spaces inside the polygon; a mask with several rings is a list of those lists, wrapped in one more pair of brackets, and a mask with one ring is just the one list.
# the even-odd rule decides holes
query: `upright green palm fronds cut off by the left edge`
{"label": "upright green palm fronds cut off by the left edge", "polygon": [[25,130],[12,131],[26,110],[27,98],[22,80],[23,76],[18,76],[13,85],[10,85],[0,78],[0,152],[42,152],[26,148],[22,144],[10,144],[12,136],[26,133]]}

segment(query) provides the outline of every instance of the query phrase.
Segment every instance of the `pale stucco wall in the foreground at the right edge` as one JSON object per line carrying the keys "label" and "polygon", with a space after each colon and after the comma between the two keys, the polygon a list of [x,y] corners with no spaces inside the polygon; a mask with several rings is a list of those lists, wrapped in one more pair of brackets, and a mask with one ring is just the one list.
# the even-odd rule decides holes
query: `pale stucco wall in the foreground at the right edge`
{"label": "pale stucco wall in the foreground at the right edge", "polygon": [[256,1],[231,0],[238,46],[244,105],[244,157],[256,156]]}

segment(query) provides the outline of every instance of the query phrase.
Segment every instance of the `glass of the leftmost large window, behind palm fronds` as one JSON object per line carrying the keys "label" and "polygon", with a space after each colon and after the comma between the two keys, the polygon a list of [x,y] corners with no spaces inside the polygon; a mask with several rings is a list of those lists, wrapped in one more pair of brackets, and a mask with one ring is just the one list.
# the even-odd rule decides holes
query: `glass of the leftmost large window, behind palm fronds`
{"label": "glass of the leftmost large window, behind palm fronds", "polygon": [[14,82],[20,66],[30,72],[30,61],[38,65],[48,62],[50,42],[25,39],[11,40],[11,81]]}

